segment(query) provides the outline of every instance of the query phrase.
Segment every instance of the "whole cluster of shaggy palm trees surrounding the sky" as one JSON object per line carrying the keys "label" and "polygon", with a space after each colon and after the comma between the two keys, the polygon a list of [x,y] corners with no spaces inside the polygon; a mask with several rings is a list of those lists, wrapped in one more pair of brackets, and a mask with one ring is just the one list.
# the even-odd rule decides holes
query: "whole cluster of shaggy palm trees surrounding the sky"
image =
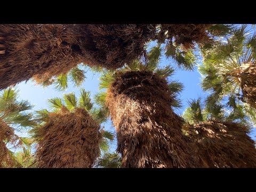
{"label": "whole cluster of shaggy palm trees surrounding the sky", "polygon": [[[248,136],[256,124],[254,29],[0,25],[0,167],[256,167]],[[151,41],[156,45],[147,49]],[[163,57],[171,65],[159,66]],[[184,88],[171,79],[175,65],[197,67],[207,92],[182,115],[174,112]],[[101,74],[95,103],[81,87],[85,67]],[[80,95],[63,94],[49,99],[48,109],[31,111],[14,87],[30,78],[58,91],[71,81]],[[114,133],[105,130],[107,119]]]}

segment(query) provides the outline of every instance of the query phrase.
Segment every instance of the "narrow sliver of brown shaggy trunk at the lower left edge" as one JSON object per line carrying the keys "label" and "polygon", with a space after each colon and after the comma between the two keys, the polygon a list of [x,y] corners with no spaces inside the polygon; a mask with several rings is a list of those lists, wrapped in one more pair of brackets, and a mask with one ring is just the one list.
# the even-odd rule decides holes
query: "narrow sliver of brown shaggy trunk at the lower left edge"
{"label": "narrow sliver of brown shaggy trunk at the lower left edge", "polygon": [[4,143],[4,140],[12,141],[13,137],[14,129],[0,119],[0,167],[3,166],[3,163],[6,164],[6,166],[11,166],[13,163],[9,149],[7,149]]}

